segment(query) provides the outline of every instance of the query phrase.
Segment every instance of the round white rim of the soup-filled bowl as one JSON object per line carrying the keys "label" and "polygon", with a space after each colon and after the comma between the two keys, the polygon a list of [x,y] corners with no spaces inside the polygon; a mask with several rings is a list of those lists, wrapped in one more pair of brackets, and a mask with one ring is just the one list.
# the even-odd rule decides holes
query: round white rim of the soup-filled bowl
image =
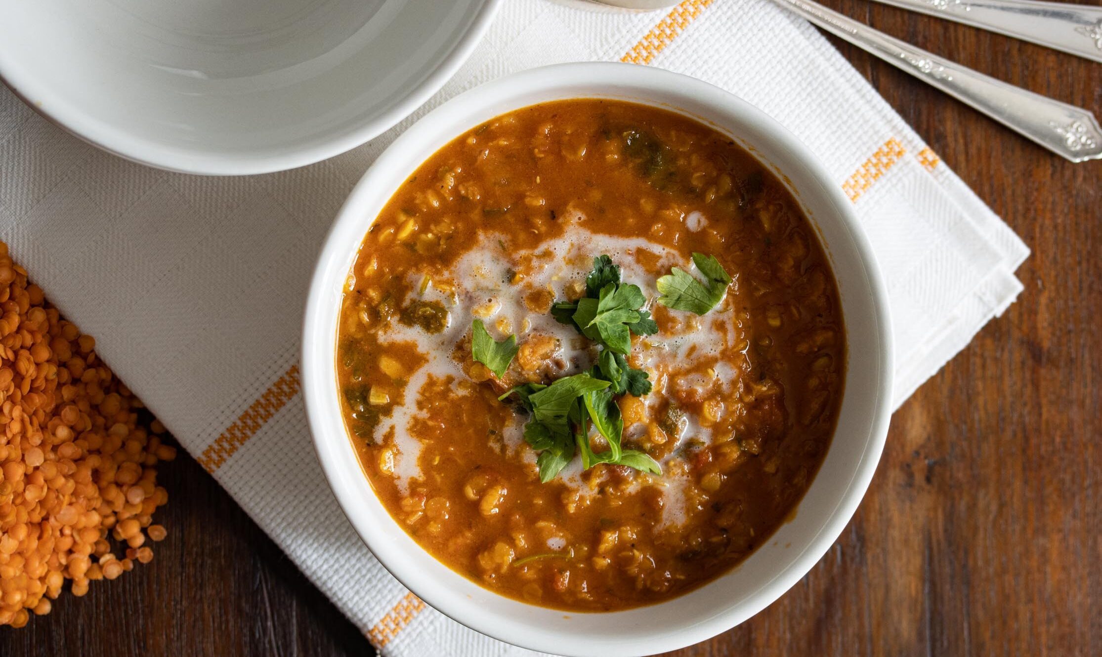
{"label": "round white rim of the soup-filled bowl", "polygon": [[[874,355],[877,367],[875,373],[869,374],[869,377],[873,378],[875,383],[875,388],[873,390],[874,399],[869,402],[869,405],[875,409],[875,411],[868,420],[868,435],[864,439],[864,448],[857,463],[853,466],[853,475],[845,484],[844,493],[838,497],[836,505],[823,520],[821,529],[807,540],[806,547],[796,558],[793,558],[786,567],[778,568],[777,572],[773,573],[771,579],[766,584],[750,593],[741,604],[732,604],[723,612],[716,612],[716,614],[712,617],[687,624],[672,631],[668,629],[658,634],[647,635],[640,637],[638,640],[631,640],[626,645],[611,646],[608,644],[586,644],[584,638],[577,639],[561,635],[541,634],[539,632],[519,632],[518,627],[497,626],[487,622],[486,618],[480,618],[480,612],[472,611],[471,607],[475,607],[476,605],[453,604],[452,601],[443,600],[442,594],[437,594],[443,589],[443,586],[439,584],[431,588],[418,585],[417,583],[411,585],[411,580],[414,577],[412,567],[402,562],[401,553],[395,550],[392,546],[386,545],[382,538],[375,536],[376,532],[367,530],[369,527],[361,525],[358,518],[359,514],[356,508],[356,500],[352,499],[350,495],[346,495],[342,492],[341,478],[343,473],[339,471],[336,463],[338,454],[335,450],[338,448],[336,446],[335,441],[342,440],[347,443],[348,438],[344,431],[342,431],[338,437],[326,435],[327,431],[323,426],[322,417],[324,414],[323,403],[325,398],[328,395],[332,395],[334,398],[337,396],[336,386],[333,385],[332,381],[327,380],[327,370],[325,369],[322,359],[327,358],[335,363],[335,355],[329,354],[328,356],[324,356],[323,354],[317,353],[317,349],[310,348],[312,343],[317,344],[316,341],[318,340],[327,340],[328,342],[326,344],[335,345],[336,335],[326,337],[323,333],[321,333],[323,328],[320,326],[320,324],[324,323],[322,320],[324,314],[333,312],[333,309],[328,308],[325,302],[326,287],[332,287],[336,282],[332,278],[326,278],[325,273],[326,269],[332,267],[331,261],[334,258],[339,259],[341,256],[338,254],[347,248],[346,244],[339,243],[335,239],[338,236],[341,228],[346,224],[359,222],[366,222],[364,224],[366,227],[374,220],[375,217],[365,219],[364,216],[357,213],[359,205],[366,203],[372,197],[383,195],[372,189],[375,179],[378,175],[381,175],[378,172],[395,165],[404,170],[408,165],[406,160],[411,159],[406,154],[407,150],[410,148],[421,154],[421,157],[418,158],[413,164],[414,168],[420,165],[424,159],[431,157],[432,152],[435,152],[435,149],[440,148],[440,146],[436,146],[432,152],[423,152],[424,149],[418,144],[418,141],[422,139],[431,141],[433,136],[439,136],[441,129],[435,128],[434,123],[439,119],[446,117],[453,110],[465,107],[466,104],[471,104],[475,108],[485,109],[495,105],[496,100],[500,97],[509,98],[509,100],[507,100],[509,109],[505,109],[496,114],[503,114],[510,111],[511,109],[526,107],[531,105],[531,103],[521,103],[517,105],[514,99],[517,94],[510,93],[511,87],[523,87],[525,84],[539,85],[542,84],[544,78],[548,77],[555,77],[560,80],[571,80],[559,82],[550,85],[550,87],[554,89],[582,87],[585,84],[601,84],[607,82],[624,85],[626,87],[635,86],[642,90],[651,90],[667,96],[688,96],[690,94],[702,95],[705,96],[705,100],[702,101],[703,104],[714,106],[722,101],[726,104],[725,109],[730,109],[731,107],[737,108],[739,114],[744,115],[744,117],[748,117],[747,120],[755,121],[756,127],[768,132],[769,139],[775,140],[780,147],[798,154],[800,163],[808,169],[810,176],[821,184],[820,186],[822,187],[822,193],[829,197],[829,201],[834,208],[840,211],[841,216],[838,217],[838,220],[841,223],[842,227],[846,229],[853,241],[853,249],[858,255],[857,263],[863,268],[863,274],[867,280],[868,290],[872,293],[871,306],[874,316],[866,317],[865,320],[875,326],[875,333],[879,343],[878,349],[876,351],[877,353]],[[658,88],[659,86],[662,87],[660,90]],[[671,90],[674,88],[677,91]],[[566,93],[569,94],[569,91]],[[594,94],[580,93],[576,96],[563,95],[562,97],[584,98],[596,96]],[[615,96],[605,97],[615,98]],[[655,104],[657,107],[660,107],[661,105],[661,103]],[[446,121],[444,122],[446,123]],[[443,143],[454,139],[456,136],[457,133],[447,134]],[[760,159],[760,155],[756,157]],[[396,187],[387,187],[385,190],[386,198],[383,200],[383,203],[386,200],[389,200],[395,191]],[[307,423],[311,429],[318,461],[329,486],[333,489],[337,503],[348,517],[349,523],[356,529],[357,535],[368,547],[371,553],[379,560],[379,562],[397,580],[413,591],[415,595],[421,597],[429,605],[452,620],[475,629],[476,632],[532,650],[550,651],[557,655],[601,655],[602,657],[612,657],[614,655],[649,655],[658,651],[677,649],[704,640],[736,626],[746,618],[749,618],[754,614],[758,613],[776,601],[780,595],[796,584],[796,582],[799,581],[807,572],[809,572],[814,564],[819,562],[827,550],[834,543],[842,530],[849,524],[872,481],[872,476],[879,462],[880,453],[887,437],[887,427],[892,414],[892,374],[894,371],[894,349],[890,317],[888,314],[888,297],[875,254],[872,250],[872,245],[864,230],[861,228],[861,224],[852,209],[852,203],[843,195],[841,187],[832,181],[831,175],[824,166],[810,152],[810,150],[802,144],[802,142],[789,132],[788,129],[782,127],[779,122],[761,110],[709,83],[650,66],[609,62],[586,62],[542,66],[514,73],[494,82],[485,83],[441,105],[432,112],[419,119],[413,126],[396,139],[395,142],[391,143],[371,164],[367,172],[365,172],[364,177],[349,193],[347,201],[337,214],[337,217],[331,226],[329,233],[323,244],[324,246],[320,251],[318,262],[310,284],[310,292],[305,306],[302,349],[303,399],[306,408]],[[339,284],[343,286],[346,277],[347,268],[345,267],[341,274]],[[849,387],[851,385],[849,380],[850,373],[847,373],[846,378],[846,386]],[[314,385],[315,383],[317,385]],[[329,390],[329,388],[332,388],[332,390]],[[327,390],[329,390],[328,395],[326,394]],[[366,478],[361,472],[359,474]],[[817,474],[817,477],[819,475]],[[376,502],[378,502],[377,498]],[[800,504],[802,504],[802,502]],[[397,524],[395,524],[395,530],[402,531]],[[423,550],[423,548],[420,549],[428,553],[428,551]],[[435,559],[431,554],[429,556],[432,559]],[[461,574],[458,577],[463,575]],[[493,591],[489,592],[493,595],[500,596]],[[687,595],[689,593],[687,593]],[[676,596],[670,600],[656,603],[656,605],[676,603],[678,600],[683,597],[684,595]]]}

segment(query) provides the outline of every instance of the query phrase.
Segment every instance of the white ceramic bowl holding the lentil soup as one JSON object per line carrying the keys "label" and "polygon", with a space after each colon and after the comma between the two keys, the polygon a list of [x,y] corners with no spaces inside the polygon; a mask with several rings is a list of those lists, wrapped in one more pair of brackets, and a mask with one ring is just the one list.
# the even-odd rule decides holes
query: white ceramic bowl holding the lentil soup
{"label": "white ceramic bowl holding the lentil soup", "polygon": [[[487,119],[576,97],[631,100],[690,115],[730,134],[774,168],[819,229],[838,279],[849,341],[838,432],[795,518],[741,566],[673,600],[614,613],[564,613],[497,595],[449,570],[391,519],[345,434],[336,385],[342,290],[360,241],[399,184],[435,150]],[[557,655],[650,655],[703,640],[756,614],[823,556],[868,486],[892,399],[888,302],[851,203],[792,134],[709,84],[649,66],[566,64],[472,89],[429,114],[368,170],[322,250],[306,303],[303,392],[317,454],[337,500],[375,556],[433,607],[478,632]]]}

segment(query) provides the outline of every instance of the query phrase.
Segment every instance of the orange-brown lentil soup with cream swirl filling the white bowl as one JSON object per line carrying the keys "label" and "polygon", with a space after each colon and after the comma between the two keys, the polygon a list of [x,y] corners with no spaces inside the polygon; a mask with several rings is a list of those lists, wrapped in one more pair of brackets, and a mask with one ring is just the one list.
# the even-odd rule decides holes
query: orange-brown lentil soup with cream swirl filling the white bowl
{"label": "orange-brown lentil soup with cream swirl filling the white bowl", "polygon": [[[583,334],[570,313],[598,299],[586,274],[604,255],[622,282],[590,303],[641,297]],[[713,299],[688,312],[659,279]],[[639,311],[657,325],[631,325]],[[598,367],[616,330],[649,391],[601,380],[616,378]],[[694,120],[599,100],[504,115],[422,164],[368,230],[338,337],[346,426],[395,519],[484,586],[580,611],[678,595],[765,542],[822,462],[845,367],[827,258],[776,177]],[[568,376],[609,386],[612,408],[579,397],[572,420],[541,419],[548,396],[526,385]],[[614,454],[601,417],[622,418],[608,431],[623,454],[646,456],[584,470],[585,450]],[[582,437],[577,453],[557,427]]]}

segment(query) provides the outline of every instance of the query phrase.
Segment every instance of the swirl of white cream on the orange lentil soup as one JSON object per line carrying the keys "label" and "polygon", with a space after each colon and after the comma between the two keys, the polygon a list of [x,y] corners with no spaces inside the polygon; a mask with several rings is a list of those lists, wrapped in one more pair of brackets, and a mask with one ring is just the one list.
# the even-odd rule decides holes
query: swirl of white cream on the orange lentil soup
{"label": "swirl of white cream on the orange lentil soup", "polygon": [[[568,217],[563,217],[563,220],[566,219]],[[702,215],[690,216],[688,220],[700,223],[701,226],[705,222]],[[694,270],[692,263],[685,262],[680,254],[660,244],[641,237],[625,238],[592,233],[573,225],[561,237],[549,239],[536,248],[521,250],[510,248],[501,234],[488,233],[443,276],[435,272],[426,280],[426,272],[407,273],[407,282],[412,292],[401,300],[401,305],[414,301],[436,302],[447,310],[447,321],[444,330],[435,334],[400,322],[391,322],[378,334],[380,344],[413,343],[419,352],[428,356],[426,364],[411,373],[400,402],[395,406],[391,416],[380,422],[377,430],[379,435],[393,430],[398,451],[395,478],[403,494],[408,493],[411,480],[422,476],[419,463],[422,445],[415,432],[411,431],[411,423],[424,420],[424,413],[418,408],[422,389],[433,379],[439,379],[451,380],[451,387],[456,394],[469,391],[460,385],[467,377],[453,353],[456,345],[465,340],[473,320],[480,319],[495,340],[503,340],[509,334],[515,334],[521,344],[534,335],[558,338],[561,356],[568,364],[566,375],[576,374],[592,365],[590,341],[582,337],[573,326],[557,322],[549,312],[533,312],[525,299],[541,290],[545,290],[554,301],[576,298],[584,289],[585,277],[593,268],[594,257],[599,255],[608,255],[619,266],[625,283],[636,284],[642,290],[647,298],[645,308],[648,309],[652,308],[659,297],[656,287],[659,276],[668,273],[671,267]],[[655,269],[645,267],[644,261]],[[514,281],[514,274],[518,271],[523,272],[523,276]],[[699,386],[706,389],[719,386],[730,389],[737,380],[734,367],[720,359],[721,352],[730,349],[738,338],[730,299],[728,295],[710,316],[698,317],[680,313],[687,316],[681,319],[674,335],[657,334],[640,341],[633,360],[637,367],[651,373],[651,381],[655,384],[655,392],[644,400],[645,403],[652,403],[653,398],[671,387]],[[677,374],[702,365],[710,367],[714,377],[681,377]],[[694,438],[712,442],[712,432],[701,427],[696,418],[687,413],[685,419],[682,440]],[[534,472],[536,454],[523,441],[525,421],[522,416],[512,418],[501,435],[493,440],[497,440],[510,455],[519,452],[526,467]],[[631,428],[627,429],[625,433],[630,435]],[[674,452],[676,450],[671,450],[670,453]],[[663,468],[672,457],[674,456],[666,456],[662,460]],[[559,480],[587,495],[592,492],[581,474],[581,460],[575,455]],[[663,524],[677,524],[684,517],[681,488],[685,482],[682,478],[684,477],[663,477],[665,481],[659,484],[666,499]]]}

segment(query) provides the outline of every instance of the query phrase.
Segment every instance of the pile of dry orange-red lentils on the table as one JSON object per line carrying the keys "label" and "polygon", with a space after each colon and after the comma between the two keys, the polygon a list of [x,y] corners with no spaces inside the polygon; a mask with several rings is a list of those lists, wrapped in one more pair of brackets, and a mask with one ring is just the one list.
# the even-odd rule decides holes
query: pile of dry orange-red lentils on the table
{"label": "pile of dry orange-red lentils on the table", "polygon": [[133,568],[109,536],[142,563],[147,534],[164,538],[155,466],[176,451],[139,426],[141,401],[95,345],[0,243],[0,625],[50,613],[66,579],[84,595]]}

